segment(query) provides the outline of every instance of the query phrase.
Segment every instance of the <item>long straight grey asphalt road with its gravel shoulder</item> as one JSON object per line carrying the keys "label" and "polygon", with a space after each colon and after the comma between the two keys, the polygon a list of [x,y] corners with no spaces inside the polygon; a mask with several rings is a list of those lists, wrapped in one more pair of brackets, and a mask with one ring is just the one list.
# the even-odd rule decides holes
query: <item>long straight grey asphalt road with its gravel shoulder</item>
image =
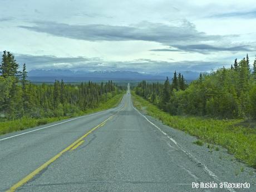
{"label": "long straight grey asphalt road with its gravel shoulder", "polygon": [[[195,140],[137,111],[128,88],[113,109],[1,136],[0,191],[256,191],[252,169]],[[225,181],[250,189],[192,188]]]}

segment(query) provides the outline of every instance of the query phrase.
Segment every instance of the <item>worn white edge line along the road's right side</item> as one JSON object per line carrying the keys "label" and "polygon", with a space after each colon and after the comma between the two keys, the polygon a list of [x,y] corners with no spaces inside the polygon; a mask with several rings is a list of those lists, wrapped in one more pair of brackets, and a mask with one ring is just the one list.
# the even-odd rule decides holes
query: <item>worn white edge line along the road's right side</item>
{"label": "worn white edge line along the road's right side", "polygon": [[[131,104],[132,104],[132,102],[131,102]],[[151,125],[155,126],[156,129],[158,129],[162,134],[167,135],[167,134],[166,134],[164,131],[162,131],[157,125],[155,125],[155,124],[152,123],[149,119],[147,119],[147,117],[146,117],[145,115],[141,114],[141,112],[140,112],[139,110],[137,110],[137,109],[134,107],[133,104],[132,104],[132,107],[133,107],[140,115],[142,115],[148,122],[150,122]],[[185,151],[185,150],[178,144],[178,142],[176,142],[176,141],[175,141],[173,138],[171,138],[170,136],[167,136],[167,137],[168,137],[168,139],[170,139],[176,146],[178,146],[181,151],[183,151],[186,155],[188,155],[188,156],[189,156],[191,159],[193,159],[196,163],[203,165],[204,171],[205,171],[206,173],[208,173],[212,178],[214,178],[215,180],[217,180],[217,181],[219,181],[219,182],[222,182],[222,181],[220,181],[220,179],[218,178],[218,176],[216,176],[216,175],[213,173],[213,171],[211,171],[206,165],[200,163],[200,161],[199,161],[198,159],[196,159],[193,155],[191,155],[189,152]],[[227,190],[229,190],[229,191],[231,191],[231,192],[236,192],[234,189],[229,189],[229,188],[228,188]]]}

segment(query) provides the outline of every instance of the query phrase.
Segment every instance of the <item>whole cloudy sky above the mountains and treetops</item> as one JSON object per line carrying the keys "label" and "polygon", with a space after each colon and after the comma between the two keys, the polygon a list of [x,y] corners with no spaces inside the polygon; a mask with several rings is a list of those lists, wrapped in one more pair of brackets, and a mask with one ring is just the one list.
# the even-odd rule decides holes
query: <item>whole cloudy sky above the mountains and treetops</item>
{"label": "whole cloudy sky above the mountains and treetops", "polygon": [[28,70],[210,71],[256,54],[244,1],[1,0],[0,51]]}

